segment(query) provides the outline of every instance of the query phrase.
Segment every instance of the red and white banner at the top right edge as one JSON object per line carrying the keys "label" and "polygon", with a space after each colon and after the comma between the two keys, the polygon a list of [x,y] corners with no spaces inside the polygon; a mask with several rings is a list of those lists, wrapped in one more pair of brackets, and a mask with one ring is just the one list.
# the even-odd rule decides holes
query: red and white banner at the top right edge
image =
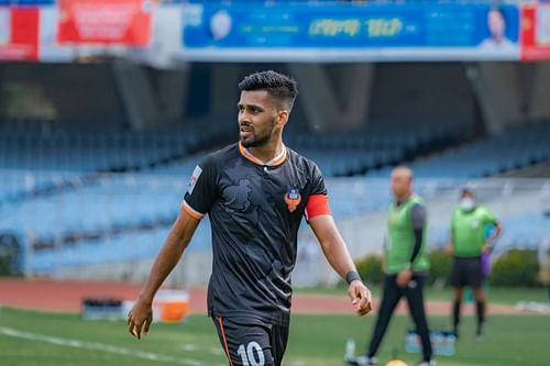
{"label": "red and white banner at the top right edge", "polygon": [[521,59],[550,59],[550,4],[522,7]]}

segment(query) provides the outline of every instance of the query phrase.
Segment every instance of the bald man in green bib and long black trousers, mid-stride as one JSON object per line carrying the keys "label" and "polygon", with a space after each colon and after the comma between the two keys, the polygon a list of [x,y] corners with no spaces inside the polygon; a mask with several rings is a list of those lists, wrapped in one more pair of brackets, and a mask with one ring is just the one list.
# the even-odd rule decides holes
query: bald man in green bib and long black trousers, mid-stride
{"label": "bald man in green bib and long black trousers, mid-stride", "polygon": [[424,358],[419,366],[432,366],[430,331],[424,307],[424,282],[430,267],[426,245],[426,208],[413,192],[413,170],[396,167],[392,171],[392,192],[395,201],[387,214],[388,240],[385,248],[384,293],[376,325],[364,356],[354,365],[376,365],[375,354],[402,297],[407,299],[410,314],[422,343]]}

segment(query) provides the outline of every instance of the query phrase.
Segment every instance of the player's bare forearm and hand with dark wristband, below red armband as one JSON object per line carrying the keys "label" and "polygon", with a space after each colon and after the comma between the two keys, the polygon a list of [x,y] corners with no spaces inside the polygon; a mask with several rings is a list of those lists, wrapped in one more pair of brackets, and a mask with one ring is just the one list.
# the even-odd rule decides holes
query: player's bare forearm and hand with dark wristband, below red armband
{"label": "player's bare forearm and hand with dark wristband, below red armband", "polygon": [[321,245],[329,264],[349,284],[348,295],[359,315],[367,314],[372,309],[371,290],[358,275],[355,264],[337,229],[332,215],[322,213],[309,218],[309,225]]}

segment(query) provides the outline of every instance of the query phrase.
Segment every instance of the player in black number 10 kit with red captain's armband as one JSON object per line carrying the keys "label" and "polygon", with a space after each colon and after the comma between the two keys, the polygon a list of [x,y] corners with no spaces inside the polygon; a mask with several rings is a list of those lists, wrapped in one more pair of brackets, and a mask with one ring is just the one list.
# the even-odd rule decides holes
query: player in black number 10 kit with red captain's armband
{"label": "player in black number 10 kit with red captain's armband", "polygon": [[155,292],[209,214],[213,263],[208,313],[229,364],[278,366],[288,339],[290,275],[302,217],[331,266],[348,281],[359,315],[371,310],[371,292],[330,214],[319,168],[283,144],[296,81],[263,71],[245,77],[239,88],[240,142],[207,155],[195,168],[128,326],[138,339],[148,332]]}

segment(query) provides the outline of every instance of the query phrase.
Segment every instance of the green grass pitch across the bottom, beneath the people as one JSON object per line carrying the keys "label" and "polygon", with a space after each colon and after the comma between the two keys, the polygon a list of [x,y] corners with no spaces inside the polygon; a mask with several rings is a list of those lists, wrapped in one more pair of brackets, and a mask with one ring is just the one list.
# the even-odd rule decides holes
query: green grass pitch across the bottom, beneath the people
{"label": "green grass pitch across the bottom, beneath the people", "polygon": [[[340,366],[344,343],[353,337],[358,352],[370,339],[375,317],[293,315],[285,366]],[[430,317],[433,328],[447,328],[447,317]],[[395,317],[378,358],[385,363],[394,350],[409,364],[419,355],[406,354],[407,317]],[[458,353],[438,357],[441,366],[521,365],[548,363],[549,315],[492,315],[482,342],[474,341],[474,319],[463,321]],[[78,314],[0,310],[0,364],[3,366],[64,365],[227,365],[215,326],[205,315],[184,323],[153,324],[142,341],[133,340],[125,323],[85,322]]]}

